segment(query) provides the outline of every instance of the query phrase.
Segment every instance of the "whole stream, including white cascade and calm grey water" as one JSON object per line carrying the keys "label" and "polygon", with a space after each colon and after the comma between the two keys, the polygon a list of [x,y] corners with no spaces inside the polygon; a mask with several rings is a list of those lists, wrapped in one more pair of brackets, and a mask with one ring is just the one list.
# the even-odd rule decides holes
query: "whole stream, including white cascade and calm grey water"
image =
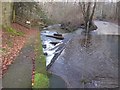
{"label": "whole stream, including white cascade and calm grey water", "polygon": [[[118,87],[118,26],[103,21],[95,21],[95,24],[98,30],[92,31],[87,39],[81,28],[72,33],[60,29],[60,24],[43,29],[46,67],[52,62],[48,68],[52,73],[50,88]],[[55,33],[61,33],[64,39],[46,37]]]}

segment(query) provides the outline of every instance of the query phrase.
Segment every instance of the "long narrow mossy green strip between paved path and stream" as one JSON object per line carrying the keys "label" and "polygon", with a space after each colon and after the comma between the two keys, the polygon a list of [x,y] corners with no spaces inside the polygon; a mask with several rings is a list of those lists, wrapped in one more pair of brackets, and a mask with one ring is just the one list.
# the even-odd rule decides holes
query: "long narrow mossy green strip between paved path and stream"
{"label": "long narrow mossy green strip between paved path and stream", "polygon": [[40,33],[37,37],[35,43],[35,77],[34,77],[34,85],[33,88],[48,88],[49,87],[49,79],[46,71],[46,60],[43,55],[42,44],[40,41]]}

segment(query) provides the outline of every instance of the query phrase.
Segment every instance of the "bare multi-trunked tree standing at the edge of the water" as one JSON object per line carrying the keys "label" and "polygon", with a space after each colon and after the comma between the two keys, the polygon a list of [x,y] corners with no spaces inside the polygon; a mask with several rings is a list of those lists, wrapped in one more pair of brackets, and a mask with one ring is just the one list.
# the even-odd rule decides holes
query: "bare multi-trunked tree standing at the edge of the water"
{"label": "bare multi-trunked tree standing at the edge of the water", "polygon": [[93,23],[96,2],[79,2],[79,6],[82,10],[86,33],[89,33],[93,28],[97,28]]}

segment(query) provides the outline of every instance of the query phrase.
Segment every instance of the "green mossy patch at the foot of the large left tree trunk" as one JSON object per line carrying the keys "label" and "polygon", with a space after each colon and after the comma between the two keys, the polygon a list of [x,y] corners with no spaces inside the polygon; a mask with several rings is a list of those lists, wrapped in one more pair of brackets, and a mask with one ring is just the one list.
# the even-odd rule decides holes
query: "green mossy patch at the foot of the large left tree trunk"
{"label": "green mossy patch at the foot of the large left tree trunk", "polygon": [[15,29],[12,28],[12,27],[3,26],[3,28],[4,28],[10,35],[13,35],[13,36],[24,36],[24,33],[23,33],[23,32],[17,31],[17,30],[15,30]]}

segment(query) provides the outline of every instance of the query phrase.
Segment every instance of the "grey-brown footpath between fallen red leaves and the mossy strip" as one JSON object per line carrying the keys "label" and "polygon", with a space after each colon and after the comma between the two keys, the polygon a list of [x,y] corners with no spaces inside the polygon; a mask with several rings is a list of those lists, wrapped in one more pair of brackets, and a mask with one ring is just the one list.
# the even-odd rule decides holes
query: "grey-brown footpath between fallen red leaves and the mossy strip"
{"label": "grey-brown footpath between fallen red leaves and the mossy strip", "polygon": [[31,88],[32,59],[34,58],[36,35],[29,36],[27,43],[3,76],[3,88]]}

